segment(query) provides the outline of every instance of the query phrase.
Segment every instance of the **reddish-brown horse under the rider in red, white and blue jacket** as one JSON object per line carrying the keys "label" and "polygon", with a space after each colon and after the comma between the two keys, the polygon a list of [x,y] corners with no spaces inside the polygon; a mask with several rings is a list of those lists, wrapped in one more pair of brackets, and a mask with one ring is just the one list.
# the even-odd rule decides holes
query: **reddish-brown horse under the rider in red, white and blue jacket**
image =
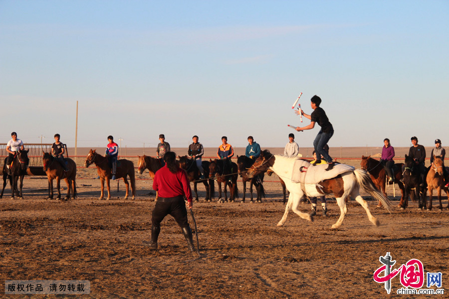
{"label": "reddish-brown horse under the rider in red, white and blue jacket", "polygon": [[[104,180],[106,179],[106,186],[108,189],[108,200],[111,199],[111,186],[110,186],[110,179],[112,177],[112,168],[109,166],[108,158],[102,156],[101,154],[98,154],[95,149],[90,149],[89,153],[86,156],[86,161],[84,161],[84,166],[87,168],[90,164],[95,163],[95,166],[97,166],[97,172],[100,176],[100,182],[101,182],[101,195],[99,199],[104,198]],[[127,159],[120,159],[117,160],[117,171],[115,173],[115,177],[117,179],[123,178],[123,181],[126,185],[126,195],[125,199],[128,199],[129,194],[129,182],[128,178],[131,181],[131,189],[133,193],[133,198],[135,199],[136,195],[136,181],[134,178],[134,163]]]}

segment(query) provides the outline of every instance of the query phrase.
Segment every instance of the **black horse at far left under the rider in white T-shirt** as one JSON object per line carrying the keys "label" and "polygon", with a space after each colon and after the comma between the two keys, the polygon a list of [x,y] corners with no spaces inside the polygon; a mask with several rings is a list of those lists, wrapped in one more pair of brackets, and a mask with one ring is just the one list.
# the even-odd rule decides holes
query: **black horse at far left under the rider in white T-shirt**
{"label": "black horse at far left under the rider in white T-shirt", "polygon": [[[9,178],[9,184],[11,185],[11,199],[14,199],[14,192],[17,194],[17,197],[22,199],[22,186],[23,186],[23,177],[26,174],[26,168],[29,164],[27,150],[18,150],[14,155],[14,158],[11,163],[11,175],[8,175],[8,171],[6,168],[6,159],[4,159],[3,163],[3,188],[1,189],[0,198],[3,197],[4,187],[6,186],[6,181]],[[20,177],[20,192],[17,189],[17,182]]]}

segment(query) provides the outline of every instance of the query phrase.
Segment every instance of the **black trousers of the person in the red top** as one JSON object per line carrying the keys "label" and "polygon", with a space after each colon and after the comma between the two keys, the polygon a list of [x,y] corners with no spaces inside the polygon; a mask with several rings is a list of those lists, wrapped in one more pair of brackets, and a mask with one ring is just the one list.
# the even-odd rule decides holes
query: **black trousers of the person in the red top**
{"label": "black trousers of the person in the red top", "polygon": [[151,223],[155,227],[159,227],[167,215],[172,215],[181,228],[189,227],[186,203],[184,202],[183,196],[171,198],[159,197],[153,210]]}

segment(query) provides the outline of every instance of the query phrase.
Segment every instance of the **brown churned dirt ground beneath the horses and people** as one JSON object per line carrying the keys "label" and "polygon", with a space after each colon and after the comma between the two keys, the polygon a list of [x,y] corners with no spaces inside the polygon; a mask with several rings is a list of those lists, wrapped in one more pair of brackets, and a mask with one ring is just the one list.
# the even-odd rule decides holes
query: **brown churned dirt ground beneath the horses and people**
{"label": "brown churned dirt ground beneath the horses and people", "polygon": [[[200,202],[193,208],[201,252],[196,259],[170,216],[162,223],[159,250],[142,245],[150,237],[155,204],[151,180],[137,182],[134,201],[123,200],[123,182],[119,192],[113,184],[112,200],[100,201],[99,180],[85,171],[78,175],[85,177],[77,181],[79,198],[67,202],[46,199],[45,179],[25,179],[24,199],[10,199],[7,187],[0,199],[0,281],[90,281],[91,294],[76,298],[390,298],[402,287],[399,276],[392,280],[391,295],[373,280],[382,266],[379,257],[390,252],[395,269],[419,259],[425,273],[441,272],[442,288],[448,291],[447,209],[420,211],[412,202],[405,211],[389,214],[369,199],[381,223],[375,227],[352,200],[343,225],[333,230],[340,211],[331,198],[328,217],[319,211],[311,223],[290,213],[286,224],[277,227],[285,208],[279,183],[264,184],[267,196],[261,204],[219,204],[217,196],[207,203],[199,186]],[[241,182],[238,188],[241,197]],[[300,208],[308,211],[310,205]],[[195,231],[190,215],[189,222]]]}

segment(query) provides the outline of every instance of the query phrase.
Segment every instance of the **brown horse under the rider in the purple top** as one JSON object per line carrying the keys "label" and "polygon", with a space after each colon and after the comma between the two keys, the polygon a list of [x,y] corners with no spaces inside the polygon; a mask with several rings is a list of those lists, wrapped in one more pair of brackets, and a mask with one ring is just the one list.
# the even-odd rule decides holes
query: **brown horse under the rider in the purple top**
{"label": "brown horse under the rider in the purple top", "polygon": [[[399,189],[401,189],[401,201],[399,202],[398,208],[400,208],[403,205],[404,201],[404,184],[401,182],[403,165],[404,163],[395,163],[395,166],[393,168],[395,175],[395,182],[398,184]],[[387,192],[385,190],[387,173],[385,171],[384,166],[382,165],[382,162],[373,159],[370,155],[367,157],[362,155],[362,161],[360,162],[360,166],[362,166],[362,169],[368,171],[368,173],[371,175],[371,180],[373,181],[374,185],[379,190],[382,191],[385,197],[388,197]],[[382,202],[379,201],[377,207],[378,208],[382,207]]]}

